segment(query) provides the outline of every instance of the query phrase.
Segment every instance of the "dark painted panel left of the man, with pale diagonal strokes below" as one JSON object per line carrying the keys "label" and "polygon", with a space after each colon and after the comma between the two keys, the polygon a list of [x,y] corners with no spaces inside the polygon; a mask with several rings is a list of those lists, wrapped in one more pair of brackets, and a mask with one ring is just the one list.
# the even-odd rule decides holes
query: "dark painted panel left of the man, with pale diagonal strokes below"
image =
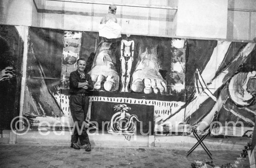
{"label": "dark painted panel left of the man, with pale diagonal strokes below", "polygon": [[24,114],[59,117],[63,31],[29,28]]}

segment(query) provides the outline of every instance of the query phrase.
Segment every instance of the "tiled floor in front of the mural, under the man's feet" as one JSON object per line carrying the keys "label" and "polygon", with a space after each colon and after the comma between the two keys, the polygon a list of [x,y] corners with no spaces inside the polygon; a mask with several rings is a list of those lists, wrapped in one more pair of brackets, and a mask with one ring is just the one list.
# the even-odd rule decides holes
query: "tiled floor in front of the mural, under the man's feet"
{"label": "tiled floor in front of the mural, under the man's feet", "polygon": [[[235,163],[241,150],[215,150],[213,162],[218,166]],[[69,146],[0,145],[0,168],[191,168],[195,160],[211,161],[203,150],[168,148],[92,147],[91,152]],[[243,161],[249,168],[249,159]]]}

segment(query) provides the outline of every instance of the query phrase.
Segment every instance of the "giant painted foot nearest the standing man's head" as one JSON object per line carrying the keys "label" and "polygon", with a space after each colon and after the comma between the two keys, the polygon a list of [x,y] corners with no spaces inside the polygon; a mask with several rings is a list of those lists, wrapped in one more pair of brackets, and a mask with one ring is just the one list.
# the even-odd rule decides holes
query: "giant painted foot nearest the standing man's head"
{"label": "giant painted foot nearest the standing man's head", "polygon": [[88,74],[91,74],[94,82],[94,89],[105,89],[108,92],[118,90],[119,76],[115,68],[115,54],[109,48],[112,43],[103,42],[98,48],[92,69]]}

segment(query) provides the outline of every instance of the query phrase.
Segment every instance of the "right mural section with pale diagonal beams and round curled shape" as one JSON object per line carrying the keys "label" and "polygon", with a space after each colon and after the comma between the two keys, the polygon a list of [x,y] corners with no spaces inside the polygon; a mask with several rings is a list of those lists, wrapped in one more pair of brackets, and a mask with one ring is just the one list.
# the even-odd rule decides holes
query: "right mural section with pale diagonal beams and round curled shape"
{"label": "right mural section with pale diagonal beams and round curled shape", "polygon": [[[189,41],[186,107],[164,122],[185,121],[205,132],[213,121],[219,121],[222,134],[232,128],[231,123],[240,131],[233,134],[232,129],[232,135],[251,133],[255,125],[255,88],[251,87],[255,86],[255,43],[216,41],[213,50],[195,54],[198,49],[193,49],[193,40]],[[196,46],[207,49],[205,44]]]}

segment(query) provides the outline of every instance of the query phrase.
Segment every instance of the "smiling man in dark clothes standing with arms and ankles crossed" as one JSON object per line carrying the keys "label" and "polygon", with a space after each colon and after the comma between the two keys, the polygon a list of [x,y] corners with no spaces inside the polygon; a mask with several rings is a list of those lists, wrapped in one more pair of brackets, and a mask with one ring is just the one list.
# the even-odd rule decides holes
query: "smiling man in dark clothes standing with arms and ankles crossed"
{"label": "smiling man in dark clothes standing with arms and ankles crossed", "polygon": [[[71,148],[80,149],[78,139],[85,151],[91,151],[91,144],[86,129],[86,116],[89,104],[89,91],[94,88],[89,74],[85,74],[86,61],[77,60],[77,70],[70,73],[69,77],[69,107],[74,120],[74,130],[71,136]],[[78,127],[78,128],[77,128]],[[79,130],[78,130],[79,129]]]}

